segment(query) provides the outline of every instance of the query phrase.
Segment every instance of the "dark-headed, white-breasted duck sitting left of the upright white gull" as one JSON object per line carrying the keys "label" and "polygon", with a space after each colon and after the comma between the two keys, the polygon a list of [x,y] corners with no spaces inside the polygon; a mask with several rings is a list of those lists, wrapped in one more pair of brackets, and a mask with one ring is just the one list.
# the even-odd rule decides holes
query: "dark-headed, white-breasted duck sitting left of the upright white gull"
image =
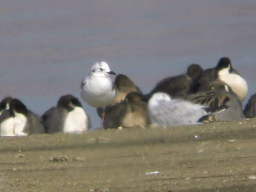
{"label": "dark-headed, white-breasted duck sitting left of the upright white gull", "polygon": [[57,106],[42,115],[47,133],[65,132],[81,134],[90,129],[90,118],[79,100],[73,95],[63,95]]}

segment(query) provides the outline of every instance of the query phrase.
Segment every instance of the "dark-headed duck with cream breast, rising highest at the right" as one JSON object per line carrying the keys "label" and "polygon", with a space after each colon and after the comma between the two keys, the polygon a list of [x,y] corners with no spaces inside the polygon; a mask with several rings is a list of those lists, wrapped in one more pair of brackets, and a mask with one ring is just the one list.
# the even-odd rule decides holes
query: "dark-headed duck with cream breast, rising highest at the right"
{"label": "dark-headed duck with cream breast, rising highest at the right", "polygon": [[196,77],[188,93],[198,93],[207,90],[212,81],[220,80],[226,83],[243,101],[248,93],[248,84],[244,78],[232,68],[229,58],[221,58],[215,68],[209,68]]}

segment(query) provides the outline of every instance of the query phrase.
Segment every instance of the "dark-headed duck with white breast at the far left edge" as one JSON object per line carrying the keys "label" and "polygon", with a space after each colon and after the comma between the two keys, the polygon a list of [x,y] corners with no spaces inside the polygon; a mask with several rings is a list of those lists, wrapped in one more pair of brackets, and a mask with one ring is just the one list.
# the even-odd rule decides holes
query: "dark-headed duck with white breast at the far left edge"
{"label": "dark-headed duck with white breast at the far left edge", "polygon": [[1,136],[28,136],[28,109],[18,99],[12,99],[9,106],[0,116]]}

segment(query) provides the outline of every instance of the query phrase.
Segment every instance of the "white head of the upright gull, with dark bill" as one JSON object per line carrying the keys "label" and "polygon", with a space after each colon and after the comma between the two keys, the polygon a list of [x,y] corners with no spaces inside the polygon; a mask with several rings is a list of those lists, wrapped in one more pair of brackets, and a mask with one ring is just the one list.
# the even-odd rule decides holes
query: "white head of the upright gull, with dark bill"
{"label": "white head of the upright gull, with dark bill", "polygon": [[116,75],[104,61],[97,62],[92,66],[92,76],[108,77],[110,74]]}

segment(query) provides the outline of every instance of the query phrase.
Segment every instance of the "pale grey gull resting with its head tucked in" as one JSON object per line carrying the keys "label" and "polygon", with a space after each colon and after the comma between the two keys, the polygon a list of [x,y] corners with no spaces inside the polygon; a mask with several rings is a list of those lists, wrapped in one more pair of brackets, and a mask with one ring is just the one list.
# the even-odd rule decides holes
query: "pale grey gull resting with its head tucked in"
{"label": "pale grey gull resting with its head tucked in", "polygon": [[204,116],[224,110],[225,107],[213,111],[188,100],[171,99],[170,95],[163,92],[154,93],[148,100],[150,122],[163,127],[198,124]]}

